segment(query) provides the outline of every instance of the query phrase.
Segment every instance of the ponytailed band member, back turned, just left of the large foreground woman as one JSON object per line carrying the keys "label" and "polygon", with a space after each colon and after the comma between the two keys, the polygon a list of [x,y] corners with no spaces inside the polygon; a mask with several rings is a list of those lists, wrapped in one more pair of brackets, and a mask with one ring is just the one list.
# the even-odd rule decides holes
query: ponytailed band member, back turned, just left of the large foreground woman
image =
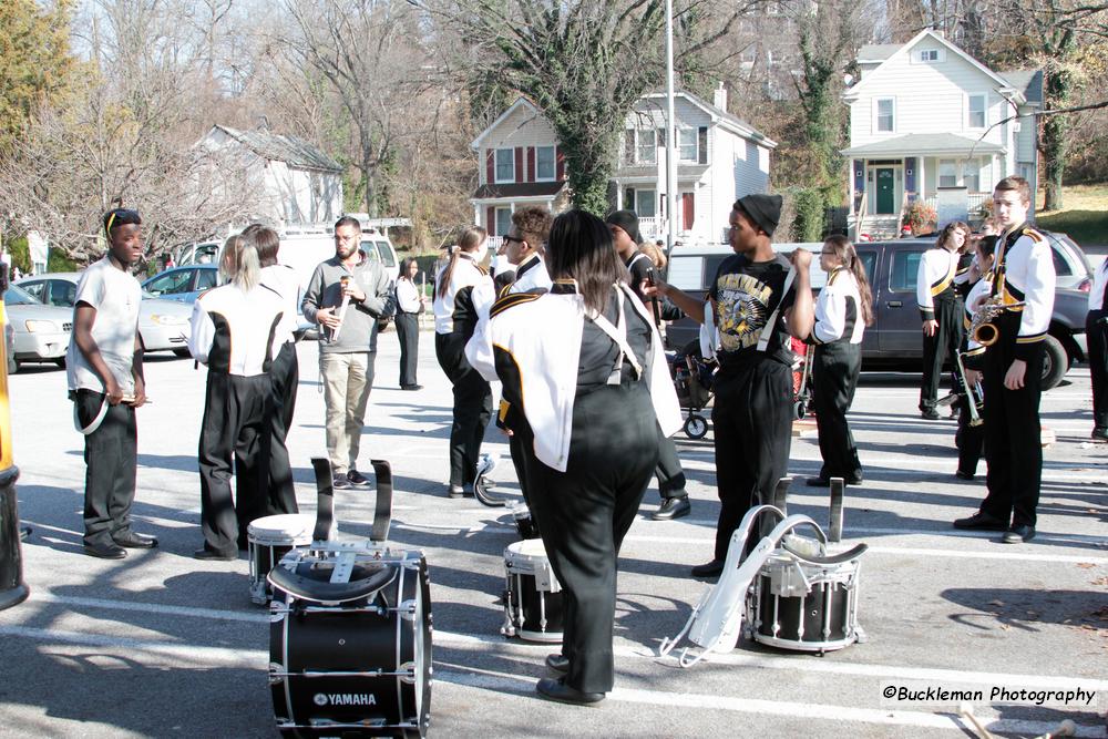
{"label": "ponytailed band member, back turned, just left of the large foreground woman", "polygon": [[450,427],[450,496],[473,495],[478,455],[492,418],[492,390],[465,359],[465,343],[478,318],[496,297],[492,278],[481,268],[488,253],[488,232],[470,226],[434,287],[434,356],[454,388],[454,420]]}

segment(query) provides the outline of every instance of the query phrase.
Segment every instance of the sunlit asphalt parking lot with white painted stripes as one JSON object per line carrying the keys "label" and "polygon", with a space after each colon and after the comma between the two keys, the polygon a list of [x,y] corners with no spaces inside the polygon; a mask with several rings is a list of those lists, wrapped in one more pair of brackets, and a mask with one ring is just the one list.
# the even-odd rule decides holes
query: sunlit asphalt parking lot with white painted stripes
{"label": "sunlit asphalt parking lot with white painted stripes", "polygon": [[[710,556],[718,503],[710,434],[679,437],[693,514],[648,517],[647,492],[620,558],[616,689],[595,708],[540,700],[550,646],[500,635],[503,550],[516,541],[505,509],[445,496],[450,389],[421,341],[418,393],[398,387],[396,333],[381,337],[362,442],[396,475],[391,541],[420,548],[434,615],[431,736],[435,737],[931,737],[976,736],[957,700],[927,689],[981,691],[974,711],[1001,736],[1030,737],[1063,719],[1105,737],[1108,709],[1108,447],[1088,443],[1088,369],[1046,393],[1057,437],[1045,452],[1038,537],[1024,545],[955,532],[983,483],[954,478],[954,423],[915,411],[919,376],[865,374],[851,413],[865,483],[847,492],[844,546],[870,545],[859,622],[868,642],[819,657],[742,639],[689,669],[657,659],[706,589],[688,576]],[[324,448],[316,347],[299,346],[300,388],[289,448],[301,511],[315,509],[309,458]],[[10,378],[30,598],[0,612],[0,736],[276,736],[267,685],[268,615],[248,597],[248,563],[198,562],[196,444],[204,372],[189,360],[146,361],[153,403],[140,410],[136,528],[161,547],[122,562],[81,553],[84,464],[64,372],[28,366]],[[515,496],[507,447],[500,492]],[[802,479],[819,466],[814,432],[793,441],[801,482],[790,510],[825,521],[827,492]],[[981,465],[984,472],[984,462]],[[368,535],[373,500],[337,497],[340,530]],[[921,700],[883,697],[890,688]],[[1087,702],[989,700],[995,690],[1091,691]]]}

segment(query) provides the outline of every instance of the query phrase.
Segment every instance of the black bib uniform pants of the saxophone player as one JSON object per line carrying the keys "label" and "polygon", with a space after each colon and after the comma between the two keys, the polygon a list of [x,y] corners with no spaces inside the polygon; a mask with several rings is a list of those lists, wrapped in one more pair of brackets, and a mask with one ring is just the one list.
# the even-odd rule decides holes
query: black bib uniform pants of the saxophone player
{"label": "black bib uniform pants of the saxophone player", "polygon": [[985,351],[985,460],[988,463],[988,494],[981,510],[1010,521],[1012,525],[1035,525],[1039,483],[1043,478],[1043,445],[1039,397],[1043,384],[1043,346],[1027,361],[1024,387],[1008,390],[1004,376],[1015,359],[1015,335],[1019,314],[996,320],[1001,338]]}

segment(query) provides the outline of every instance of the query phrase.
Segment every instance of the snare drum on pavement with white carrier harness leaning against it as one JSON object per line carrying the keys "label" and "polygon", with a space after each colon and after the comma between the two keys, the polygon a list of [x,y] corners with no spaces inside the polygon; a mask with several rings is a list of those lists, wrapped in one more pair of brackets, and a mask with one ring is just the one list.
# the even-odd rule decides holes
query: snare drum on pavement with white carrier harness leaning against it
{"label": "snare drum on pavement with white carrier harness leaning against it", "polygon": [[773,554],[747,596],[750,636],[799,651],[832,651],[858,640],[859,561],[835,565]]}

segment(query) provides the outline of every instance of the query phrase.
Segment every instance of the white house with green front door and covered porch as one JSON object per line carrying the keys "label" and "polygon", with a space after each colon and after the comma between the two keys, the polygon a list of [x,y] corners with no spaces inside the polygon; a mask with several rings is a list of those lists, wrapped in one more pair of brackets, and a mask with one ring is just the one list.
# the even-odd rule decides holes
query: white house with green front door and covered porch
{"label": "white house with green front door and covered porch", "polygon": [[975,217],[1003,177],[1035,187],[1030,114],[1042,106],[1040,71],[994,72],[932,30],[905,44],[862,47],[858,65],[860,79],[843,93],[856,233],[895,233],[917,198],[942,223]]}

